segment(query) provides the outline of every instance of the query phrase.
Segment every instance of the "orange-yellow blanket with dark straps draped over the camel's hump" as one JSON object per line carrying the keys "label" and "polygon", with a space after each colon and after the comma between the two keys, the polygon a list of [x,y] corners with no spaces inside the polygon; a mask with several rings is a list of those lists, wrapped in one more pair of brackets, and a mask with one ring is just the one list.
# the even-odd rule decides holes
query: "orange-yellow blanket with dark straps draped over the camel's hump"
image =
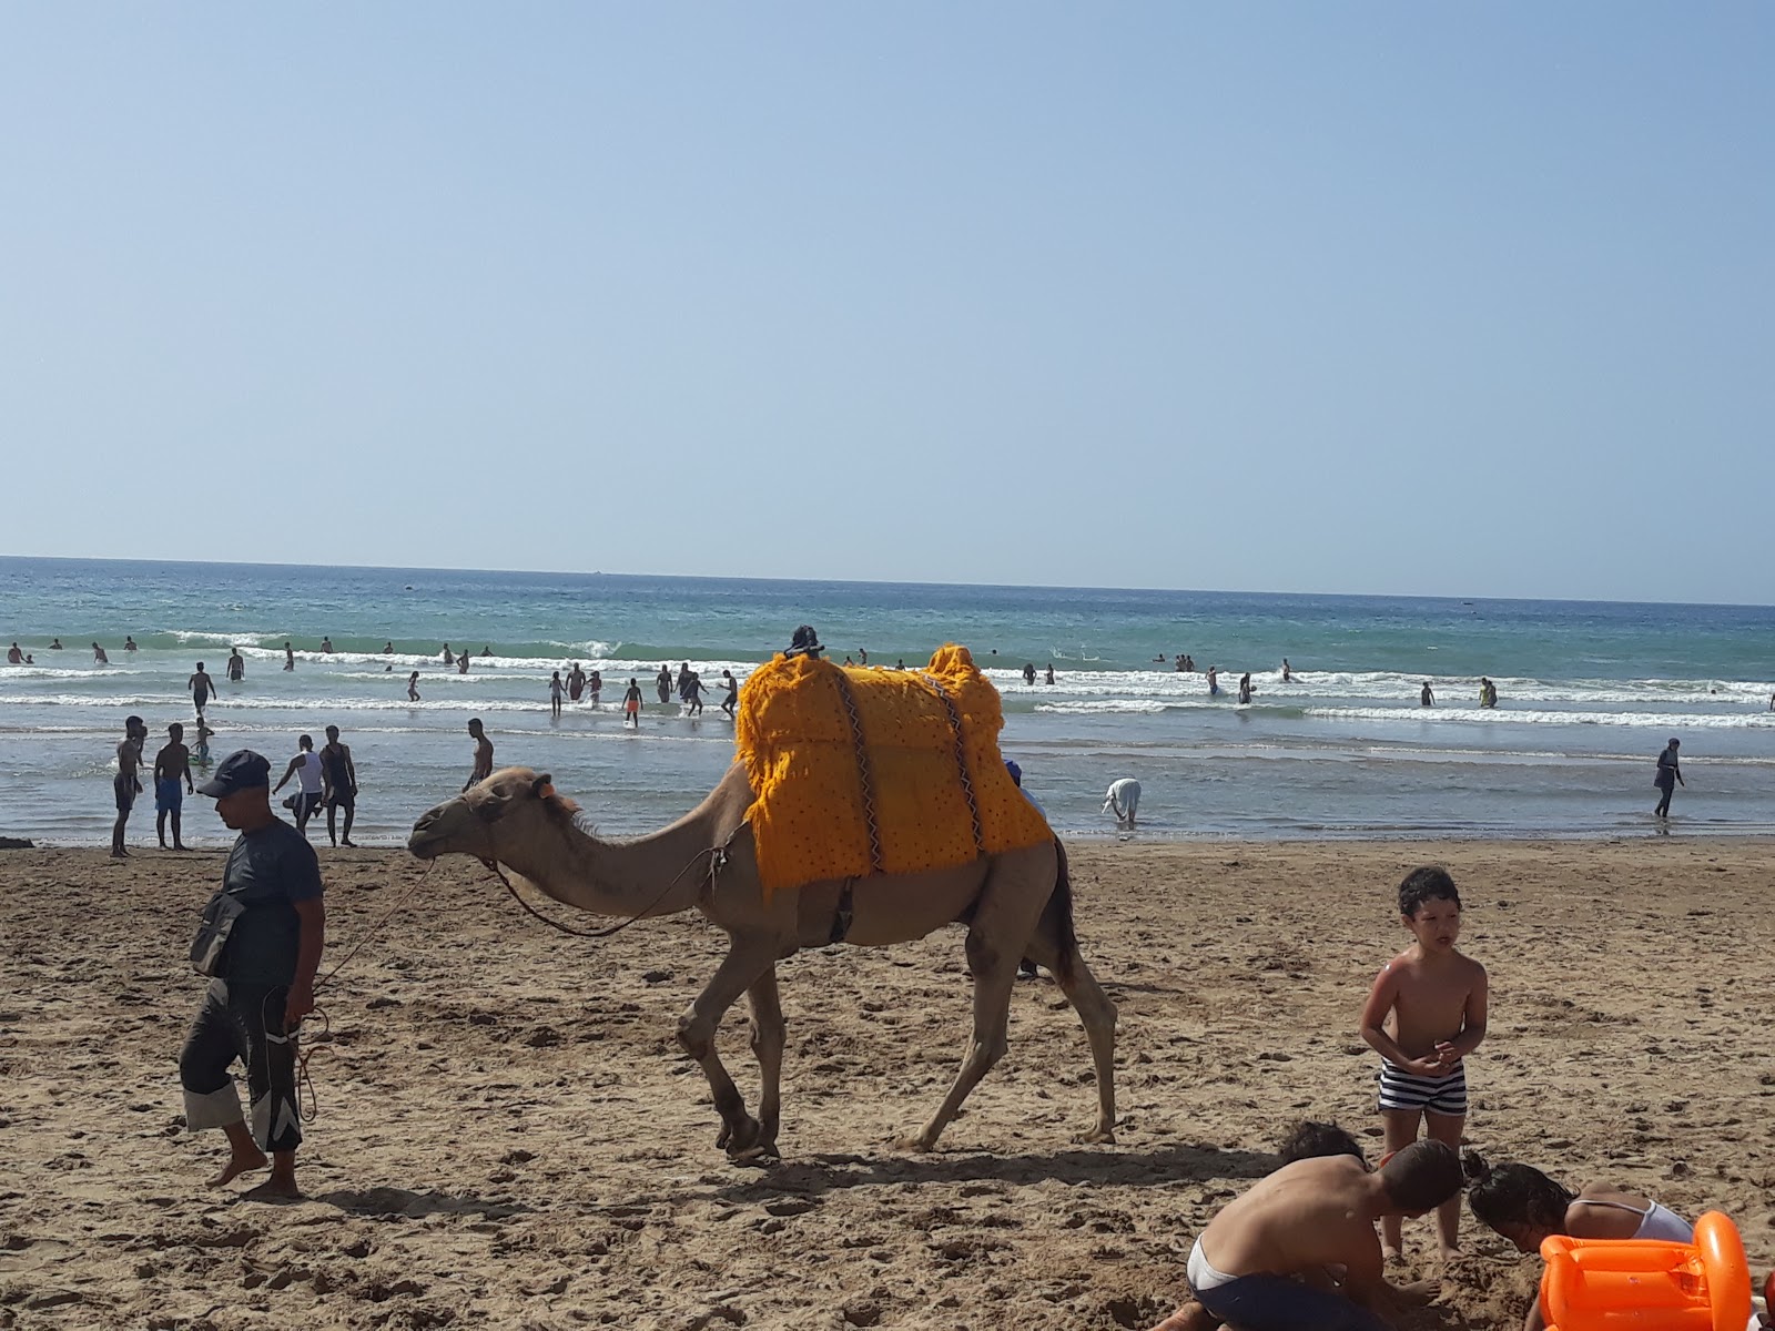
{"label": "orange-yellow blanket with dark straps draped over the camel's hump", "polygon": [[923,671],[777,657],[740,690],[765,893],[918,873],[1053,839],[999,758],[1005,708],[967,648]]}

